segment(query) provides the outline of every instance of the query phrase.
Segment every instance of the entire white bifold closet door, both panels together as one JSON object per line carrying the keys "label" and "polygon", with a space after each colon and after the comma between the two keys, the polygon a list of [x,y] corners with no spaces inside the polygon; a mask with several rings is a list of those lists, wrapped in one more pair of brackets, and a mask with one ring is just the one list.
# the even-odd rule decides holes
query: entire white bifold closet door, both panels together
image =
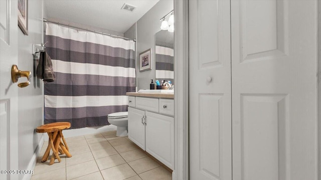
{"label": "entire white bifold closet door, both panels together", "polygon": [[317,1],[189,1],[190,179],[317,180]]}

